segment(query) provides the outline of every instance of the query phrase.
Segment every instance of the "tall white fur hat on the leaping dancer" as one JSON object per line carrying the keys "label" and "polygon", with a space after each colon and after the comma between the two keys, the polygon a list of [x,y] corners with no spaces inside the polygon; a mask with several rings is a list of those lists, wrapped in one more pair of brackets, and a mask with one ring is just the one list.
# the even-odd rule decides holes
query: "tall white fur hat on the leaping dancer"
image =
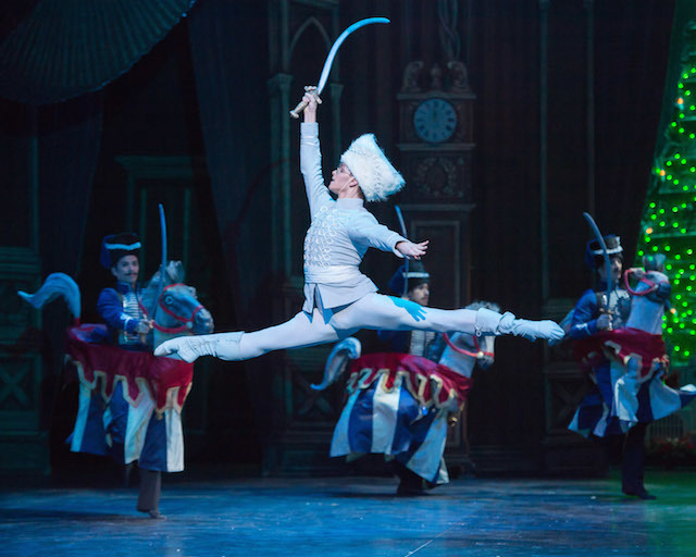
{"label": "tall white fur hat on the leaping dancer", "polygon": [[358,181],[368,201],[384,201],[406,183],[377,145],[373,134],[358,137],[340,156],[343,162]]}

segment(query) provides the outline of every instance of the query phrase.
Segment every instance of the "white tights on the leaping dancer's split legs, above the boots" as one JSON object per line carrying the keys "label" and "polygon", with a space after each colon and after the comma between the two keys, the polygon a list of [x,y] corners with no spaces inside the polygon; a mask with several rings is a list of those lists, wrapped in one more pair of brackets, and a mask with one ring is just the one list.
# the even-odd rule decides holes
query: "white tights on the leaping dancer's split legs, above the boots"
{"label": "white tights on the leaping dancer's split legs, above the boots", "polygon": [[475,323],[476,311],[473,310],[427,308],[402,298],[368,294],[334,312],[328,322],[322,311],[314,308],[311,317],[301,311],[279,325],[245,333],[239,339],[239,359],[256,358],[272,350],[334,343],[360,329],[438,333],[459,331],[473,334]]}

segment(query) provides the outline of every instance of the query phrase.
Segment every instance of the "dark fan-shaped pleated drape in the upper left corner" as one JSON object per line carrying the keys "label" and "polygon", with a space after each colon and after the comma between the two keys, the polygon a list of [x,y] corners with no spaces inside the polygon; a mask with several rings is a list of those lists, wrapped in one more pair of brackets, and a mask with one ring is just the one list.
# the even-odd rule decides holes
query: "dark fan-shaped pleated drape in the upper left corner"
{"label": "dark fan-shaped pleated drape in the upper left corner", "polygon": [[0,21],[0,96],[47,104],[128,71],[195,0],[11,2]]}

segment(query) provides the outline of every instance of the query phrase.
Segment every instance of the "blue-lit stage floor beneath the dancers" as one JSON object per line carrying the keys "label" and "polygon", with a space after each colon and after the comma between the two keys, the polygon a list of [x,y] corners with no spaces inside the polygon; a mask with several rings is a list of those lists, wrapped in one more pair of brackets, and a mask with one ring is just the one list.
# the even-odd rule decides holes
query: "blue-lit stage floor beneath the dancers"
{"label": "blue-lit stage floor beneath the dancers", "polygon": [[464,478],[420,498],[389,478],[165,480],[164,521],[135,511],[134,488],[5,488],[0,555],[691,557],[695,476],[648,472],[649,502],[616,476]]}

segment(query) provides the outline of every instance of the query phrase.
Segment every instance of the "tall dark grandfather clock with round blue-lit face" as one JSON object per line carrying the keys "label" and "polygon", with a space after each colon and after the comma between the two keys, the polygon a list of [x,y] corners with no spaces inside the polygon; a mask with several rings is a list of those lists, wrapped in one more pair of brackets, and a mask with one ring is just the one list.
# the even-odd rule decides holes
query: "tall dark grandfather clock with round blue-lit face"
{"label": "tall dark grandfather clock with round blue-lit face", "polygon": [[[424,261],[433,306],[459,308],[470,300],[472,113],[475,95],[467,67],[450,61],[407,64],[399,103],[399,164],[407,187],[399,203],[412,239],[430,239]],[[447,462],[469,462],[467,409],[451,428]]]}

